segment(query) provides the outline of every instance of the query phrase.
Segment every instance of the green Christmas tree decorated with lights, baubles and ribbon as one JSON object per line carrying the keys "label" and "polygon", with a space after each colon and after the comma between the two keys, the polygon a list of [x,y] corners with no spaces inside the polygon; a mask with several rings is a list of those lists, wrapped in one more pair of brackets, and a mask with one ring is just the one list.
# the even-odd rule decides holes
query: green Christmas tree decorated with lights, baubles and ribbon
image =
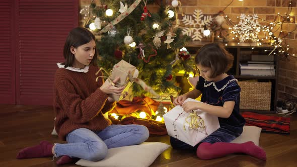
{"label": "green Christmas tree decorated with lights, baubles and ribbon", "polygon": [[[81,11],[87,13],[83,14],[85,26],[100,38],[98,65],[111,70],[123,59],[134,65],[139,70],[138,78],[158,94],[179,91],[175,74],[179,70],[186,71],[185,75],[193,71],[193,58],[189,52],[180,51],[190,38],[183,36],[177,26],[177,5],[161,5],[158,13],[150,13],[146,5],[153,1],[101,0],[100,3],[92,2]],[[132,92],[134,96],[148,95],[137,84],[133,84]]]}

